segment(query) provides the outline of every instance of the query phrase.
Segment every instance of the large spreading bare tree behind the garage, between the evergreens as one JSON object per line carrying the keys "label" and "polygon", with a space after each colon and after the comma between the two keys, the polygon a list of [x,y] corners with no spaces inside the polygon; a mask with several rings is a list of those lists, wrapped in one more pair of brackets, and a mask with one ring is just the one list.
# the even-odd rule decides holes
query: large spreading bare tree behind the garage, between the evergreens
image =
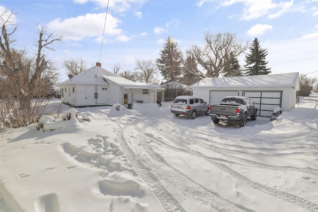
{"label": "large spreading bare tree behind the garage, between the evergreens", "polygon": [[212,34],[210,30],[206,31],[204,41],[203,47],[192,45],[186,52],[206,70],[205,77],[218,77],[233,58],[238,57],[248,48],[247,42],[243,44],[236,34],[229,32]]}

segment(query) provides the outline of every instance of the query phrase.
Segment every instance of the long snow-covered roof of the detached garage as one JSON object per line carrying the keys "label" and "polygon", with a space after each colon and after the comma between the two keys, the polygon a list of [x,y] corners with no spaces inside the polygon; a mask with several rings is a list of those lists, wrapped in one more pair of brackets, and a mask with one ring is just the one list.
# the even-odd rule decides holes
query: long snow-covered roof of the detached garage
{"label": "long snow-covered roof of the detached garage", "polygon": [[231,77],[207,77],[190,88],[295,87],[299,90],[299,72]]}

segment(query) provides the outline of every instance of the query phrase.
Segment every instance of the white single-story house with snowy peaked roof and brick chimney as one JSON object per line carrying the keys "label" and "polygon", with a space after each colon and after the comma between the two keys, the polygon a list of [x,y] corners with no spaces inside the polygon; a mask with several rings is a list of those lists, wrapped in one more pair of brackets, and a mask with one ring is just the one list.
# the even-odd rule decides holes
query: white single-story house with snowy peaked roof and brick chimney
{"label": "white single-story house with snowy peaked roof and brick chimney", "polygon": [[157,103],[162,88],[134,82],[101,68],[96,63],[86,71],[58,84],[63,103],[73,107],[121,104],[128,109],[134,102]]}

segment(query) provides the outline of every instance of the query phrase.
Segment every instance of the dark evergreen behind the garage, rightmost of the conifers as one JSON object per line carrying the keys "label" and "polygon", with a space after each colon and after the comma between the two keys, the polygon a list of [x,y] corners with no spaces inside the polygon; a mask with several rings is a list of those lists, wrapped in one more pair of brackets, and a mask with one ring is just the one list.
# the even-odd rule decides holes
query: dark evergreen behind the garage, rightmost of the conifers
{"label": "dark evergreen behind the garage, rightmost of the conifers", "polygon": [[249,47],[250,53],[245,56],[244,66],[246,68],[246,75],[266,75],[269,74],[270,68],[266,68],[268,61],[266,61],[267,49],[260,48],[257,38]]}

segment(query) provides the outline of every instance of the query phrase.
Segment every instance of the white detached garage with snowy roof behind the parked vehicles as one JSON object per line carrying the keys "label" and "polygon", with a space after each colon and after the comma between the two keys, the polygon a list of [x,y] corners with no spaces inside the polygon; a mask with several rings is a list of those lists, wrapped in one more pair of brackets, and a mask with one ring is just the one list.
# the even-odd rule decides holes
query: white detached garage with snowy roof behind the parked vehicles
{"label": "white detached garage with snowy roof behind the parked vehicles", "polygon": [[258,116],[270,117],[276,107],[289,111],[295,107],[299,72],[256,76],[204,78],[190,86],[193,95],[210,104],[224,96],[246,96],[256,102]]}

